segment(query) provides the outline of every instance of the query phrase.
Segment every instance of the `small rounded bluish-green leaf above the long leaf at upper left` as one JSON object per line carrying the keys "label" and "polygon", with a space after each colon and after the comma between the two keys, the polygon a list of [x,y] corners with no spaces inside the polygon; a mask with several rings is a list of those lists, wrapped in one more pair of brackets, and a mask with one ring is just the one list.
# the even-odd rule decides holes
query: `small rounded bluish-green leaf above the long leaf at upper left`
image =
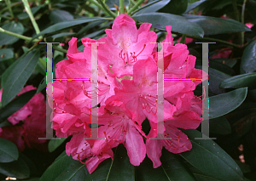
{"label": "small rounded bluish-green leaf above the long leaf at upper left", "polygon": [[49,20],[54,24],[62,21],[73,20],[73,15],[61,9],[54,9],[49,12]]}

